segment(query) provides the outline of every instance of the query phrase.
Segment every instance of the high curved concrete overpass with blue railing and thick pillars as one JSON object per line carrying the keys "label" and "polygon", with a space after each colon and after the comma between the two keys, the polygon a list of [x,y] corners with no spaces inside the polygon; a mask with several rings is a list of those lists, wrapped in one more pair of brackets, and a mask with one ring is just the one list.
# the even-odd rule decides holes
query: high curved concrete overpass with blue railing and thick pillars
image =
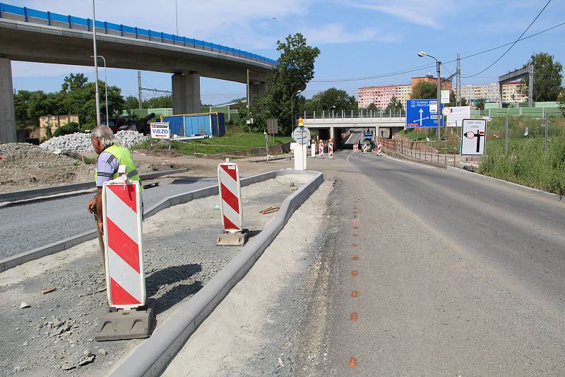
{"label": "high curved concrete overpass with blue railing and thick pillars", "polygon": [[249,95],[266,92],[276,61],[240,49],[90,18],[0,3],[0,142],[16,141],[11,61],[93,66],[98,54],[109,68],[172,73],[175,114],[200,112],[200,77],[248,83]]}

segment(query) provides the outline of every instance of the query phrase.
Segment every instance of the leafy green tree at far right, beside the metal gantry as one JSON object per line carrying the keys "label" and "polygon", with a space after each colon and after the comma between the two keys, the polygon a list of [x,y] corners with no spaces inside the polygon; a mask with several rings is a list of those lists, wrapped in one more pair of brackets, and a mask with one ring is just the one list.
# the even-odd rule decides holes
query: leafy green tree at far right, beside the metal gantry
{"label": "leafy green tree at far right, beside the metal gantry", "polygon": [[[559,61],[554,62],[553,56],[547,54],[547,52],[540,52],[532,55],[531,64],[534,66],[534,100],[539,102],[557,101],[561,92],[561,80],[563,79],[561,63]],[[524,66],[528,66],[528,63]],[[525,76],[521,85],[523,95],[528,95],[529,85],[530,77]]]}

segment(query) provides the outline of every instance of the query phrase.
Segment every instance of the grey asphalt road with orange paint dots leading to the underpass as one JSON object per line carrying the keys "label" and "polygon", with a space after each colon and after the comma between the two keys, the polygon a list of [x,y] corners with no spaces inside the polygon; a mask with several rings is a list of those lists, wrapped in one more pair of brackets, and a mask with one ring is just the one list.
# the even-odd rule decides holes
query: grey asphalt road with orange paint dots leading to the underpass
{"label": "grey asphalt road with orange paint dots leading to the underpass", "polygon": [[373,153],[336,153],[332,175],[330,299],[297,330],[327,348],[302,375],[564,373],[563,204]]}

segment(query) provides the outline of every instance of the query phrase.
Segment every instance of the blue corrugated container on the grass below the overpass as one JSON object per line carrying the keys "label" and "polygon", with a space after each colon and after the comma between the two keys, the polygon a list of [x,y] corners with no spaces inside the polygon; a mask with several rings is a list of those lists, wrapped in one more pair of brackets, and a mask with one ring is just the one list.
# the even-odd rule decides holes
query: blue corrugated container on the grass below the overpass
{"label": "blue corrugated container on the grass below the overpass", "polygon": [[222,112],[162,116],[162,121],[168,122],[171,133],[179,137],[225,135],[225,116]]}

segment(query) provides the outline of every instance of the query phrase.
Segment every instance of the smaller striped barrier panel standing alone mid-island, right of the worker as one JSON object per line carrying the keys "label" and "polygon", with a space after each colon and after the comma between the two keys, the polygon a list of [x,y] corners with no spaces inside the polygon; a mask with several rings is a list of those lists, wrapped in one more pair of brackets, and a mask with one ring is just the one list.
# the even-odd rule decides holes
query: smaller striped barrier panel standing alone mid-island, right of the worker
{"label": "smaller striped barrier panel standing alone mid-island, right of the worker", "polygon": [[222,225],[225,232],[242,232],[242,188],[239,182],[239,170],[233,162],[222,162],[218,165],[218,187],[220,188],[220,205]]}

